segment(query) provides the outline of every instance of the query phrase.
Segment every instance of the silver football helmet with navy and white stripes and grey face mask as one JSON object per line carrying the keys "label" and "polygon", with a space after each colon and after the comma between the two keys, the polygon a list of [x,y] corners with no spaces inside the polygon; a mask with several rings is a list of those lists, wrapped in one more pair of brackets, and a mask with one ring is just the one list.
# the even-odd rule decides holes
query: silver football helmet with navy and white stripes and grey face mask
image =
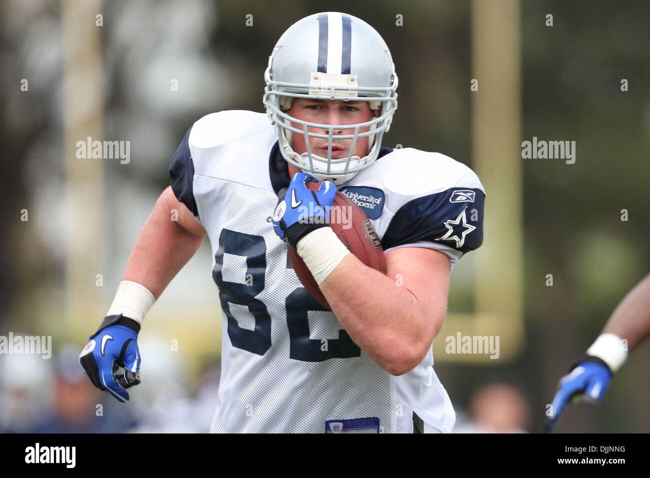
{"label": "silver football helmet with navy and white stripes and grey face mask", "polygon": [[[375,161],[383,133],[391,126],[397,108],[397,75],[391,52],[368,23],[338,12],[318,13],[297,21],[278,40],[264,77],[266,114],[276,126],[280,152],[289,163],[318,181],[328,179],[339,185]],[[294,98],[369,101],[370,109],[380,110],[380,114],[359,124],[307,122],[285,113]],[[312,133],[309,127],[326,133]],[[359,133],[365,127],[369,131]],[[335,135],[334,130],[339,129],[354,129],[354,133]],[[304,135],[307,152],[292,150],[292,134]],[[357,139],[363,137],[369,139],[367,154],[353,156]],[[328,157],[311,152],[309,138],[328,139]],[[344,139],[352,139],[348,157],[332,159],[332,143]]]}

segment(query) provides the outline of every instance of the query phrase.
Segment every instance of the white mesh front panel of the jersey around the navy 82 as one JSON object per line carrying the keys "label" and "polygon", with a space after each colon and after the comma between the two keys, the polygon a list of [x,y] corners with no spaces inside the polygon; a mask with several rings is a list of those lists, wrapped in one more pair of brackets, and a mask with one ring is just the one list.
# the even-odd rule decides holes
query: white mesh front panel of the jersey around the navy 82
{"label": "white mesh front panel of the jersey around the navy 82", "polygon": [[[276,195],[233,181],[195,176],[194,197],[213,257],[224,229],[260,236],[266,246],[265,287],[255,299],[265,304],[270,315],[271,345],[263,355],[233,346],[227,315],[222,313],[222,377],[211,431],[324,432],[326,420],[378,417],[384,432],[395,432],[395,377],[363,351],[358,357],[322,362],[290,358],[285,301],[302,285],[287,269],[287,246],[267,222]],[[246,284],[245,258],[223,254],[222,260],[224,280]],[[213,259],[213,267],[215,263]],[[253,328],[255,319],[246,306],[229,307],[239,326]],[[311,316],[311,323],[320,325],[312,327],[311,339],[336,339],[331,331],[343,328],[332,312],[311,312]],[[323,335],[315,336],[319,332]]]}

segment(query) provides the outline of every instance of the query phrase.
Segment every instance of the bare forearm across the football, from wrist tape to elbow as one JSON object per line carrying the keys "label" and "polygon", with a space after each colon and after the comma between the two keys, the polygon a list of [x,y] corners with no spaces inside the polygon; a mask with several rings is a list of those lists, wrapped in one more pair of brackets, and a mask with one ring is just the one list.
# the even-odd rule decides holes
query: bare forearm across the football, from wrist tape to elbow
{"label": "bare forearm across the football, from wrist tape to elbow", "polygon": [[320,290],[350,338],[393,375],[421,362],[439,332],[431,329],[442,323],[426,320],[426,312],[406,287],[353,254],[345,256]]}

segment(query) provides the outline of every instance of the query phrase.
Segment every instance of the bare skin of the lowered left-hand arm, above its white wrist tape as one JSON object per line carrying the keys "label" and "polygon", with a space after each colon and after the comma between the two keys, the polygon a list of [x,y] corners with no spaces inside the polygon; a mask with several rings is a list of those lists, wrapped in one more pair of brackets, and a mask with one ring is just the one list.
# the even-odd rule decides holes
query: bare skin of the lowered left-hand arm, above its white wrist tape
{"label": "bare skin of the lowered left-hand arm, above its white wrist tape", "polygon": [[[168,189],[156,202],[133,246],[122,280],[144,285],[158,299],[172,278],[198,250],[204,235],[172,220]],[[184,211],[177,210],[174,219]]]}

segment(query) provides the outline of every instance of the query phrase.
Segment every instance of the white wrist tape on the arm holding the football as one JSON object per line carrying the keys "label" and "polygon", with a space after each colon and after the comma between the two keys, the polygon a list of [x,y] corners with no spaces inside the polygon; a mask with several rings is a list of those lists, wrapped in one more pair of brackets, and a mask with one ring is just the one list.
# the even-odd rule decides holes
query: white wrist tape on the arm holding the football
{"label": "white wrist tape on the arm holding the football", "polygon": [[318,228],[296,244],[298,256],[320,285],[350,251],[331,228]]}

